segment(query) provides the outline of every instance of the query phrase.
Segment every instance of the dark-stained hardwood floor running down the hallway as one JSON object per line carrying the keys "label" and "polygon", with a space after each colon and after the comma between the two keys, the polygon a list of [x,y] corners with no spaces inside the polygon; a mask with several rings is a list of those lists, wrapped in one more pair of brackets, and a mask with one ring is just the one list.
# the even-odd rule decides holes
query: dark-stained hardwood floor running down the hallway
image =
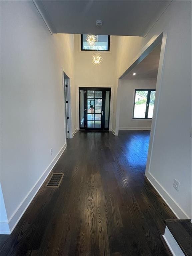
{"label": "dark-stained hardwood floor running down the hallway", "polygon": [[161,234],[176,217],[145,179],[148,144],[149,131],[76,133],[60,187],[41,187],[0,255],[170,256]]}

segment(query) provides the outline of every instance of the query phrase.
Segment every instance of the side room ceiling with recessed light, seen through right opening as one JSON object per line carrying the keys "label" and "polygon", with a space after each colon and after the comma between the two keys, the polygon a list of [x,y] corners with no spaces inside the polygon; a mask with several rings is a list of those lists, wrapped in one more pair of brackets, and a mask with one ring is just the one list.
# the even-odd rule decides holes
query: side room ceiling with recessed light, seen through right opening
{"label": "side room ceiling with recessed light, seen through right opening", "polygon": [[[157,79],[161,44],[147,55],[123,79]],[[136,73],[133,76],[133,73]]]}

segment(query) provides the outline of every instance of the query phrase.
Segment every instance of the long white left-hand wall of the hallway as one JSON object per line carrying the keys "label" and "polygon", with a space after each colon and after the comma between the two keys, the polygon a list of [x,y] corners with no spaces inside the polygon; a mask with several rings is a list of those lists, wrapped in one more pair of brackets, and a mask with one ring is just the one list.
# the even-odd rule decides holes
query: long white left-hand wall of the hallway
{"label": "long white left-hand wall of the hallway", "polygon": [[76,128],[74,36],[51,35],[32,1],[0,5],[0,178],[12,229],[65,149],[61,67],[71,79]]}

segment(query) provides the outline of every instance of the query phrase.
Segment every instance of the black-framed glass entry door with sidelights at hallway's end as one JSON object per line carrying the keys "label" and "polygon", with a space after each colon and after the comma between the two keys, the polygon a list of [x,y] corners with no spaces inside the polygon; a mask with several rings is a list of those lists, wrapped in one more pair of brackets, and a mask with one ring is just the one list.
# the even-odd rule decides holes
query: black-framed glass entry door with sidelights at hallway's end
{"label": "black-framed glass entry door with sidelights at hallway's end", "polygon": [[79,87],[79,127],[109,130],[111,88]]}

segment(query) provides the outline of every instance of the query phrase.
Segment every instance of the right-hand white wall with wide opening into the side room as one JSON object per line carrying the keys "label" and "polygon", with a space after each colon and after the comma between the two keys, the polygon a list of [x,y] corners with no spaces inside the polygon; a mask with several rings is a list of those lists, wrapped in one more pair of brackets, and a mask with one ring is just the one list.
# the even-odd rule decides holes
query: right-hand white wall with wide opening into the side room
{"label": "right-hand white wall with wide opening into the side room", "polygon": [[[162,31],[167,33],[167,42],[146,176],[180,218],[191,218],[191,1],[172,1],[145,38],[119,37],[113,129],[117,79]],[[178,192],[173,188],[174,178],[180,182]]]}

